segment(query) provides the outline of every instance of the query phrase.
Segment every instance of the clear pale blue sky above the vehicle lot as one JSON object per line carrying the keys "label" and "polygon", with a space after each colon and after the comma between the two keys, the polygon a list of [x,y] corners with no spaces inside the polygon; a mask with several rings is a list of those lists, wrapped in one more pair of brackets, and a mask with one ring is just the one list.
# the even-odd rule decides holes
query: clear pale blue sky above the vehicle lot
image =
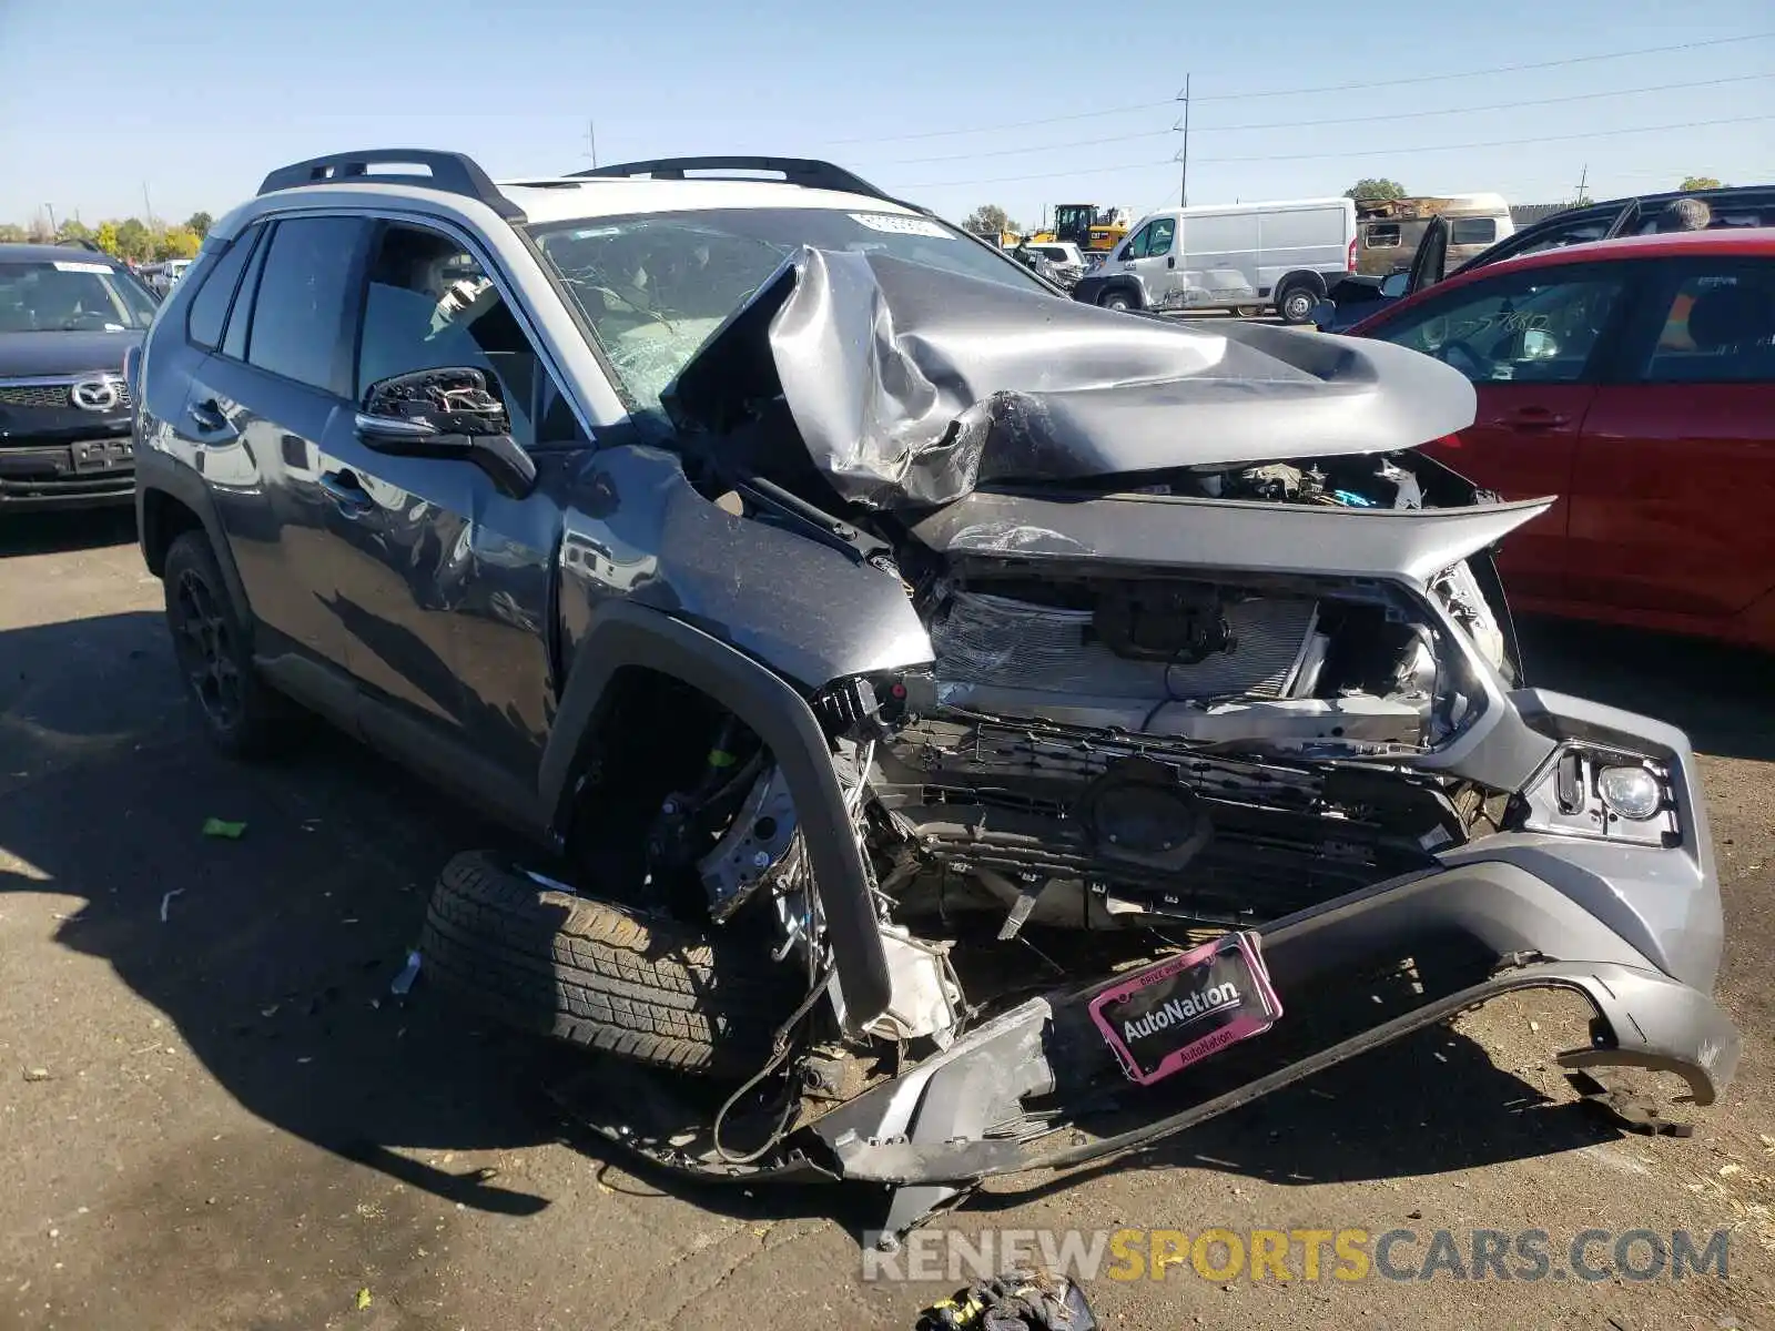
{"label": "clear pale blue sky above the vehicle lot", "polygon": [[[1585,59],[1679,43],[1718,44]],[[0,69],[11,222],[142,213],[144,185],[162,218],[220,215],[359,147],[561,174],[591,165],[588,121],[605,163],[822,156],[953,218],[1140,213],[1179,192],[1186,71],[1195,204],[1775,181],[1768,0],[0,0]]]}

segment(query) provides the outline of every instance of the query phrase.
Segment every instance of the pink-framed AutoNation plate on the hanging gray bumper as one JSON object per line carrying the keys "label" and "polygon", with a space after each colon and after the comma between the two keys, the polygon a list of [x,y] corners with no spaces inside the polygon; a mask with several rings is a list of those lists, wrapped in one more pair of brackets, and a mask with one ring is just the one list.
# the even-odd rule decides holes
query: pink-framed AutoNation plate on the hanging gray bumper
{"label": "pink-framed AutoNation plate on the hanging gray bumper", "polygon": [[1122,1070],[1141,1086],[1262,1035],[1282,1015],[1251,932],[1166,957],[1090,1003]]}

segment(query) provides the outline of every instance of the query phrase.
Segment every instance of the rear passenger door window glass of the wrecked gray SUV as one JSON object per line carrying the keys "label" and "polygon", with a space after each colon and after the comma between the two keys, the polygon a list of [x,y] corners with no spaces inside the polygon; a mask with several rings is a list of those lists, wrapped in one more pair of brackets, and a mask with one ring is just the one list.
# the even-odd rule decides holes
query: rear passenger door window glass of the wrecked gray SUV
{"label": "rear passenger door window glass of the wrecked gray SUV", "polygon": [[346,291],[367,224],[351,217],[279,222],[252,302],[248,364],[350,394]]}

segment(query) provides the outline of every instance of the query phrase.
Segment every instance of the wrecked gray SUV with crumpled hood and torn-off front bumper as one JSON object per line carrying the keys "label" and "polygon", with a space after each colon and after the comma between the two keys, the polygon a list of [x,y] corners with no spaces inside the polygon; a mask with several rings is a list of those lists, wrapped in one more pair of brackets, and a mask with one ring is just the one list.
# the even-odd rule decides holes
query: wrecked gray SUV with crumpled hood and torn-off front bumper
{"label": "wrecked gray SUV with crumpled hood and torn-off front bumper", "polygon": [[128,376],[209,735],[525,832],[424,974],[660,1164],[893,1244],[1525,988],[1732,1075],[1690,745],[1525,676],[1551,500],[1415,451],[1434,360],[1079,305],[825,163],[396,151],[273,172]]}

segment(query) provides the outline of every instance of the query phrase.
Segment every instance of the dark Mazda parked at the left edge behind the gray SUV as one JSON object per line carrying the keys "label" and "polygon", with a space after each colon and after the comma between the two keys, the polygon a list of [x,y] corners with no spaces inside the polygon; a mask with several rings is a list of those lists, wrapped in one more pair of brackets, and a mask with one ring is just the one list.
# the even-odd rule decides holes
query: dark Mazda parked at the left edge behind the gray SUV
{"label": "dark Mazda parked at the left edge behind the gray SUV", "polygon": [[153,318],[105,254],[0,245],[0,509],[131,500],[122,362]]}

